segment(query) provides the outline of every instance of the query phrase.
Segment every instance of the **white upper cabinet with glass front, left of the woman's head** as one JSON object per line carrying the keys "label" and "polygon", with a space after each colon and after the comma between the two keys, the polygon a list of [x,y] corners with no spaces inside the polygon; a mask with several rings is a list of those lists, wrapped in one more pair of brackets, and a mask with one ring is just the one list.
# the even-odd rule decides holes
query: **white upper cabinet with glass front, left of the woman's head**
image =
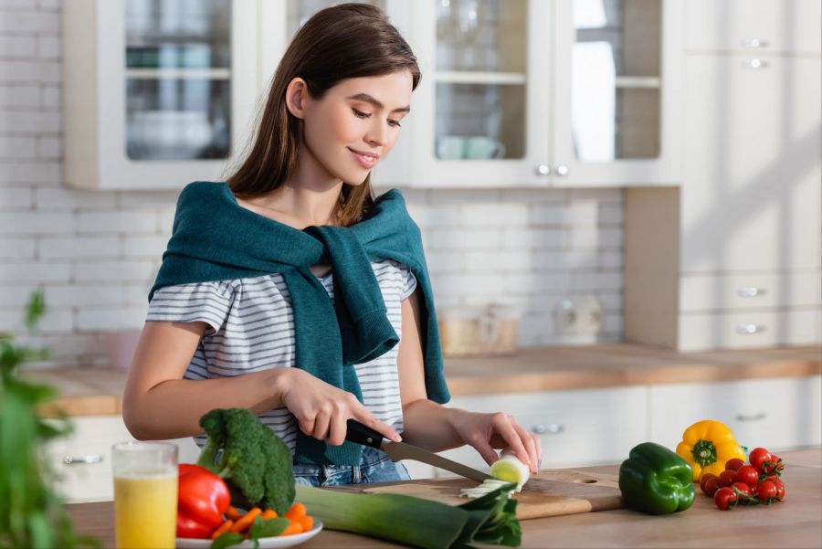
{"label": "white upper cabinet with glass front, left of the woman's head", "polygon": [[72,0],[63,13],[66,183],[219,179],[258,96],[257,3]]}

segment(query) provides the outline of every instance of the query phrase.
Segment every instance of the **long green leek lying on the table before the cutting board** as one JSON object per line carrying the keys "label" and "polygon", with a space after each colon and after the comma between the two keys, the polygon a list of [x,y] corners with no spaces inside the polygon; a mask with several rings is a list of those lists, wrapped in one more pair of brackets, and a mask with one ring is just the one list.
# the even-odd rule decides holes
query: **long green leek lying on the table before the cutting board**
{"label": "long green leek lying on the table before the cutting board", "polygon": [[355,493],[297,485],[297,500],[330,530],[360,533],[423,549],[473,542],[518,547],[513,483],[462,505],[395,493]]}

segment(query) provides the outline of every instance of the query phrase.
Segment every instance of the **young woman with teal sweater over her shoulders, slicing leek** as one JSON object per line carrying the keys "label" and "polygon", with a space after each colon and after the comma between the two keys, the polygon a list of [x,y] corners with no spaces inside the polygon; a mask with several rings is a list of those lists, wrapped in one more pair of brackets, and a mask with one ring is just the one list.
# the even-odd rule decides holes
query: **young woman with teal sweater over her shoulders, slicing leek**
{"label": "young woman with teal sweater over her shoulders, slicing leek", "polygon": [[509,448],[537,470],[539,438],[512,417],[441,406],[419,229],[398,191],[372,195],[419,79],[373,6],[327,8],[300,28],[243,164],[180,195],[124,394],[135,438],[202,444],[206,411],[246,407],[288,444],[303,483],[408,478],[344,442],[349,418],[434,451],[468,443],[488,463]]}

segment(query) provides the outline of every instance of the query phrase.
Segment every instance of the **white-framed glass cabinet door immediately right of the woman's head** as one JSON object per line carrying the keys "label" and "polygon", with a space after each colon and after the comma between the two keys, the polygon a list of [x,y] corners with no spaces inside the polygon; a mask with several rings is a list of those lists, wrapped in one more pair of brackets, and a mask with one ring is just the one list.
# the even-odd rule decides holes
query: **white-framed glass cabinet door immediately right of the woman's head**
{"label": "white-framed glass cabinet door immediately right of the woman's head", "polygon": [[411,141],[412,184],[547,185],[552,3],[412,4],[423,78],[400,138]]}

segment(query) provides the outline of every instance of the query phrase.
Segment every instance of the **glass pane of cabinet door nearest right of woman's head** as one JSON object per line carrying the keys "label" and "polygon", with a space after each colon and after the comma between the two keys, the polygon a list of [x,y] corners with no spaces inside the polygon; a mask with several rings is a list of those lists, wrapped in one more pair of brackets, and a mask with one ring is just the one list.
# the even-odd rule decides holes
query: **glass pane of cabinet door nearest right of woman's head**
{"label": "glass pane of cabinet door nearest right of woman's head", "polygon": [[433,0],[438,160],[522,159],[527,136],[526,0]]}

